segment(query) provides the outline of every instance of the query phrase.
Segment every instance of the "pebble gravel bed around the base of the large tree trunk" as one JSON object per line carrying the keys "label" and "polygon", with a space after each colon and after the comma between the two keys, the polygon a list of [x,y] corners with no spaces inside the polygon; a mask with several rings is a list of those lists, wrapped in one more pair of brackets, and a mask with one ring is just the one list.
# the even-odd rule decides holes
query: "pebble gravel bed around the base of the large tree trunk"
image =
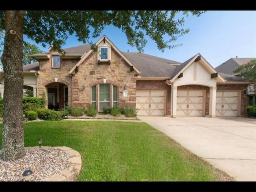
{"label": "pebble gravel bed around the base of the large tree trunk", "polygon": [[[69,167],[69,154],[63,150],[50,148],[25,148],[26,155],[15,161],[0,159],[0,181],[24,181],[22,173],[33,171],[29,181],[46,181]],[[1,153],[0,153],[1,156]]]}

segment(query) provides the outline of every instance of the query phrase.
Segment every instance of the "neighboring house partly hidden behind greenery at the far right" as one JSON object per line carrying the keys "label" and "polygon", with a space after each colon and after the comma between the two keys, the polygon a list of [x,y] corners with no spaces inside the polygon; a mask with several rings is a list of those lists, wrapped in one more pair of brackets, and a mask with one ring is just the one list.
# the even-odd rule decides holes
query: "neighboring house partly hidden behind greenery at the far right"
{"label": "neighboring house partly hidden behind greenery at the far right", "polygon": [[[238,68],[239,66],[242,66],[243,64],[247,64],[251,60],[256,58],[230,58],[226,62],[220,64],[218,67],[215,68],[216,71],[226,73],[232,76],[240,76],[239,73],[234,73],[233,71]],[[248,94],[248,104],[256,101],[256,85],[250,84],[247,88],[247,94]]]}

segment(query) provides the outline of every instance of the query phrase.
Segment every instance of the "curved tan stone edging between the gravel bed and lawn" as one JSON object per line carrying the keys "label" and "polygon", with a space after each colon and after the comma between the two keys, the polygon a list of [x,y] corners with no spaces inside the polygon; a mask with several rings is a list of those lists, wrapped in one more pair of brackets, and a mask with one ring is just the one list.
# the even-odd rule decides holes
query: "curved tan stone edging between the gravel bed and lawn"
{"label": "curved tan stone edging between the gravel bed and lawn", "polygon": [[76,179],[82,168],[82,158],[78,151],[75,151],[72,148],[66,146],[42,146],[42,148],[59,149],[65,151],[70,155],[70,166],[67,169],[62,170],[59,174],[54,174],[50,176],[50,178],[48,178],[46,181],[74,181]]}

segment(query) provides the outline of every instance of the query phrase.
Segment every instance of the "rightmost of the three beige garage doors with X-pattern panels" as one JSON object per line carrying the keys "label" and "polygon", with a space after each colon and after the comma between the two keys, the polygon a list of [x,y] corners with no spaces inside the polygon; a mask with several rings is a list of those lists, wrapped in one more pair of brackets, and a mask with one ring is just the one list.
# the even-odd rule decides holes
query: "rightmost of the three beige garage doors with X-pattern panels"
{"label": "rightmost of the three beige garage doors with X-pattern panels", "polygon": [[217,91],[216,116],[239,116],[239,93],[240,91]]}

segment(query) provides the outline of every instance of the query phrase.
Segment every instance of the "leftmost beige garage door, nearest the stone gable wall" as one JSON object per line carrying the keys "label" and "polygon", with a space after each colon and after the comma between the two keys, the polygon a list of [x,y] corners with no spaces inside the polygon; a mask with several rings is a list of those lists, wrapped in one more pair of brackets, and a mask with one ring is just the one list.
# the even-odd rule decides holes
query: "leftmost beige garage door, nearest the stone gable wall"
{"label": "leftmost beige garage door, nearest the stone gable wall", "polygon": [[137,90],[136,109],[138,116],[164,116],[164,90]]}

